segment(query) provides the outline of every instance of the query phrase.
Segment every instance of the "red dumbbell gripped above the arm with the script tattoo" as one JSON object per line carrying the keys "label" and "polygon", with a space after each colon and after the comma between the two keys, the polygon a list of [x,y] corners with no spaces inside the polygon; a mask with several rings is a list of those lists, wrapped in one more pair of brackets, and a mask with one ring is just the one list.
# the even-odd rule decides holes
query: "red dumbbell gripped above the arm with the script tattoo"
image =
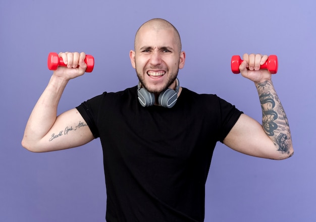
{"label": "red dumbbell gripped above the arm with the script tattoo", "polygon": [[[94,58],[92,55],[87,54],[86,58],[84,59],[84,62],[87,64],[87,73],[91,73],[94,67]],[[49,70],[57,70],[59,66],[65,66],[67,65],[64,63],[63,59],[58,56],[56,52],[50,52],[48,54],[48,60],[47,60],[47,66]],[[79,66],[78,66],[79,67]]]}

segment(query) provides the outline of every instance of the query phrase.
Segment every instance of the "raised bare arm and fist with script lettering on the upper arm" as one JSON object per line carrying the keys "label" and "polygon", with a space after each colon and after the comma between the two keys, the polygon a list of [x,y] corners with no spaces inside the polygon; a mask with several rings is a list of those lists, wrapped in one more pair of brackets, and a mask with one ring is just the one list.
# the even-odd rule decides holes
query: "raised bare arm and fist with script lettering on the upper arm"
{"label": "raised bare arm and fist with script lettering on the upper arm", "polygon": [[57,107],[68,81],[83,75],[86,70],[85,53],[67,52],[59,55],[67,68],[59,67],[54,71],[26,124],[22,146],[32,152],[72,148],[93,139],[77,109],[71,109],[57,117]]}

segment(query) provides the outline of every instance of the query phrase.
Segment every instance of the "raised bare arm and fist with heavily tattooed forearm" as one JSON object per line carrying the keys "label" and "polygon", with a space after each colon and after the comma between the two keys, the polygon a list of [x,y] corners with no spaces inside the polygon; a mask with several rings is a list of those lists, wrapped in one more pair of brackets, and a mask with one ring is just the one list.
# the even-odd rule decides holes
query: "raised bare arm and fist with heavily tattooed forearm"
{"label": "raised bare arm and fist with heavily tattooed forearm", "polygon": [[262,158],[285,159],[293,155],[291,132],[284,108],[268,70],[259,70],[267,55],[244,54],[241,75],[254,82],[262,108],[262,125],[241,115],[224,143],[239,152]]}

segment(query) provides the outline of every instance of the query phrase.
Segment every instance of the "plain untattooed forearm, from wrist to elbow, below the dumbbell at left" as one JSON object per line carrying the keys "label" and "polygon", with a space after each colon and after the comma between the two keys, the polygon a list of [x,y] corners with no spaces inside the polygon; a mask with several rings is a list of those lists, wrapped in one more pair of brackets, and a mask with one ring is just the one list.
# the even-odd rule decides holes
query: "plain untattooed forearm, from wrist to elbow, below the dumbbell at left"
{"label": "plain untattooed forearm, from wrist to elbow, below the dumbbell at left", "polygon": [[47,87],[35,104],[26,124],[22,145],[34,146],[54,125],[57,107],[68,80],[52,76]]}

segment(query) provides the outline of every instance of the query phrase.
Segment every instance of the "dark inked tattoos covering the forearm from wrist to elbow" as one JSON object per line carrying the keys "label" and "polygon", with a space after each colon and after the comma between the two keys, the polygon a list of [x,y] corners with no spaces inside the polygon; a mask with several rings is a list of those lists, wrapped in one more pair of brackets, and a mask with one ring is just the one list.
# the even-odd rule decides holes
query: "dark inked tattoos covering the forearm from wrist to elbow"
{"label": "dark inked tattoos covering the forearm from wrist to elbow", "polygon": [[[272,137],[281,153],[289,153],[289,123],[283,106],[274,91],[272,83],[266,81],[256,84],[262,108],[262,127]],[[271,89],[271,91],[269,91]]]}

